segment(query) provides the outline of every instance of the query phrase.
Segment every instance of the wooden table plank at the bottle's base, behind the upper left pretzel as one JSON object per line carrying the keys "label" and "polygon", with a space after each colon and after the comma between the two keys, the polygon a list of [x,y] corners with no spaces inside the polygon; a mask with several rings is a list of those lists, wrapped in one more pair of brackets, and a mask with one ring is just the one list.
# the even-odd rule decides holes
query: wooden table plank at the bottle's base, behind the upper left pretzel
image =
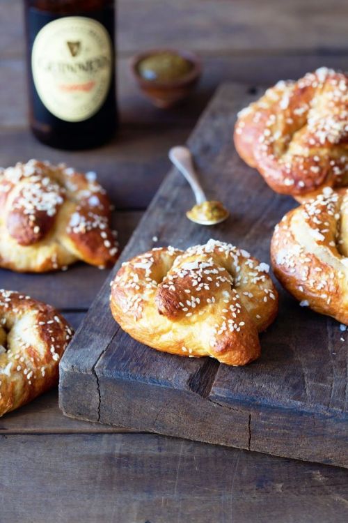
{"label": "wooden table plank at the bottle's base, behind the upper left pretzel", "polygon": [[81,153],[51,149],[37,142],[28,129],[0,128],[0,165],[8,167],[35,156],[52,163],[63,161],[82,172],[93,170],[117,210],[145,209],[168,170],[169,147],[188,135],[188,128],[121,130],[109,144]]}

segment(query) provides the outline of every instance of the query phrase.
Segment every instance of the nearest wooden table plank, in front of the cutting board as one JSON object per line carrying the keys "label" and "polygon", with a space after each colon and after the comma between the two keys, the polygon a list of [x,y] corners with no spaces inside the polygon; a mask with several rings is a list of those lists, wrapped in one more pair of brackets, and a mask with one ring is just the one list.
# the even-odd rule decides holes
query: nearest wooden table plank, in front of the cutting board
{"label": "nearest wooden table plank, in front of the cutting board", "polygon": [[[345,523],[347,471],[150,434],[0,436],[1,523]],[[30,478],[30,480],[29,480]]]}

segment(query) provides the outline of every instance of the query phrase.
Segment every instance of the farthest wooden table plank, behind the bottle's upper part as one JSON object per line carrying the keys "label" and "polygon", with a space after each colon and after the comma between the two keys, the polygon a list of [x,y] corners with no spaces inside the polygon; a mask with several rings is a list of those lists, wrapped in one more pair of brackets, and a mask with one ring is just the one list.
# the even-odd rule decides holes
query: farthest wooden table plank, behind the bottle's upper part
{"label": "farthest wooden table plank, behind the bottle's upper part", "polygon": [[[2,0],[3,56],[24,52],[22,3]],[[118,52],[187,47],[200,52],[347,49],[344,0],[118,0]]]}

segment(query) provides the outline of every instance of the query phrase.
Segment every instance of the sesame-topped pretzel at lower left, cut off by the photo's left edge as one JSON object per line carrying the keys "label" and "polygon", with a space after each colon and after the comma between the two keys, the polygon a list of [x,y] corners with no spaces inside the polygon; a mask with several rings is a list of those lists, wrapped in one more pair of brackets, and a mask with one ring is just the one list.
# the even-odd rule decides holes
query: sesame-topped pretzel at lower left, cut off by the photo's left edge
{"label": "sesame-topped pretzel at lower left, cut off by the photo's left edge", "polygon": [[0,416],[56,385],[71,336],[53,307],[0,290]]}

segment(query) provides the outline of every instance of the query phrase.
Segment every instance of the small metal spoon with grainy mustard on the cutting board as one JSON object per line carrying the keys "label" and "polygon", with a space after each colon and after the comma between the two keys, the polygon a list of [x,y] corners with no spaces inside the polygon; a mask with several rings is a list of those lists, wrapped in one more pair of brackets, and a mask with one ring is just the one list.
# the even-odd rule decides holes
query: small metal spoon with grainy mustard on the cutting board
{"label": "small metal spoon with grainy mustard on the cutting board", "polygon": [[187,218],[200,225],[216,225],[226,220],[229,212],[226,211],[223,204],[216,200],[208,200],[205,196],[193,167],[191,151],[184,146],[175,146],[171,148],[168,156],[187,179],[196,197],[196,205],[187,211]]}

